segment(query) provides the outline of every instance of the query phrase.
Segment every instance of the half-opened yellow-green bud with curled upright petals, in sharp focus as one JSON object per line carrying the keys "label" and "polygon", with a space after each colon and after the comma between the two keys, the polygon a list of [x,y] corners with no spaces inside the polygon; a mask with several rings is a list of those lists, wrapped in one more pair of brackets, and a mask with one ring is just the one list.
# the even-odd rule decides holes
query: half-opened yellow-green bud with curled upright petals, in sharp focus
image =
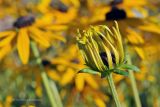
{"label": "half-opened yellow-green bud with curled upright petals, in sharp focus", "polygon": [[86,65],[93,70],[84,69],[83,72],[96,73],[97,71],[102,73],[102,76],[110,72],[123,74],[118,68],[121,65],[124,67],[125,64],[123,44],[117,22],[115,23],[116,26],[112,27],[113,31],[107,26],[100,25],[91,27],[82,34],[78,33],[79,49]]}

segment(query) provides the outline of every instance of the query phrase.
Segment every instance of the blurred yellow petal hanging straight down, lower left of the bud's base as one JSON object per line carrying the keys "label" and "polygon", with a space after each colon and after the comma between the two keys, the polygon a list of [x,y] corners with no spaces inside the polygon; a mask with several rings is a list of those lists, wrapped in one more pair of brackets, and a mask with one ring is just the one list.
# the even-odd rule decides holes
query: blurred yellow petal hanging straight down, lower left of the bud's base
{"label": "blurred yellow petal hanging straight down, lower left of the bud's base", "polygon": [[75,85],[78,91],[82,91],[84,88],[85,81],[84,81],[83,74],[84,73],[79,73],[76,75],[76,78],[75,78]]}

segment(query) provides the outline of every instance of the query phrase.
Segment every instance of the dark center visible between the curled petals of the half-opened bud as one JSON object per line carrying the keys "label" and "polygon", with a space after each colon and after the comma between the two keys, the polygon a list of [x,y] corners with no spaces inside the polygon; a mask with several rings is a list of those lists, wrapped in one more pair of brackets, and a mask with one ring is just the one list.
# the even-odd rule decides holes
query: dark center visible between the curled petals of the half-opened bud
{"label": "dark center visible between the curled petals of the half-opened bud", "polygon": [[[106,65],[108,67],[109,65],[108,65],[108,60],[107,60],[107,54],[105,52],[101,52],[100,56],[101,56],[101,59],[102,59],[104,65]],[[112,62],[113,62],[113,64],[115,64],[116,63],[115,55],[112,53],[111,56],[112,56]]]}

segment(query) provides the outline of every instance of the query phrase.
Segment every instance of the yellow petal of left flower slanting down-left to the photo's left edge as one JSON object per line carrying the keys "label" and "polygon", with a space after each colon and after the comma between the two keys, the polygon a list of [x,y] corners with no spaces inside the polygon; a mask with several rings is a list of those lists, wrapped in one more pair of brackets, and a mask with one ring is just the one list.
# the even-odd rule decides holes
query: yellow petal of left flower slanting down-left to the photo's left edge
{"label": "yellow petal of left flower slanting down-left to the photo's left edge", "polygon": [[15,35],[16,35],[16,33],[12,32],[6,38],[2,39],[0,42],[0,47],[8,45],[13,40]]}

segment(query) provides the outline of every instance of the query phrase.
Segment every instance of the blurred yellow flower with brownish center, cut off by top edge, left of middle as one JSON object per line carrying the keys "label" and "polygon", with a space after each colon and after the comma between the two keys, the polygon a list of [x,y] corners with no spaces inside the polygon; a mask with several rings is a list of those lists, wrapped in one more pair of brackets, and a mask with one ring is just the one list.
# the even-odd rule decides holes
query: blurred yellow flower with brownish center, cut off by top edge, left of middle
{"label": "blurred yellow flower with brownish center, cut off by top edge, left of middle", "polygon": [[76,18],[79,9],[79,1],[42,0],[37,8],[42,14],[52,14],[57,24],[67,24]]}

